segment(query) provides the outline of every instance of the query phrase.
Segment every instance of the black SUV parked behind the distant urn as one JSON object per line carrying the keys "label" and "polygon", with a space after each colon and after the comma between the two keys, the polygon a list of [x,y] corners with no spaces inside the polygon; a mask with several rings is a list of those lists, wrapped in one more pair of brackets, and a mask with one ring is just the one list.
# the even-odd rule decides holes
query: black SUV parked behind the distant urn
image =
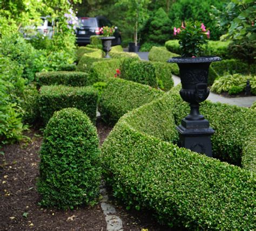
{"label": "black SUV parked behind the distant urn", "polygon": [[[103,16],[97,16],[95,18],[89,17],[78,17],[79,27],[76,30],[77,44],[90,44],[90,37],[100,35],[100,27],[103,26],[113,26],[112,23]],[[112,45],[120,45],[122,38],[117,27],[115,27],[114,40],[112,40]]]}

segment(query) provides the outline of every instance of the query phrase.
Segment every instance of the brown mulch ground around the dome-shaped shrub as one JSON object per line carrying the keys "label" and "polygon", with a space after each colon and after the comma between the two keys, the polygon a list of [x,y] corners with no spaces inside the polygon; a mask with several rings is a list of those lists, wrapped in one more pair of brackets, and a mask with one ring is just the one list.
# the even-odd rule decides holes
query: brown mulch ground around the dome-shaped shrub
{"label": "brown mulch ground around the dome-shaped shrub", "polygon": [[[97,121],[100,144],[112,127]],[[39,176],[39,149],[42,134],[31,130],[30,141],[4,146],[0,155],[0,230],[106,230],[105,216],[100,204],[79,207],[73,211],[46,209],[38,205],[36,180]],[[111,198],[124,230],[171,230],[161,227],[150,212],[127,212]],[[177,229],[174,229],[177,230]]]}

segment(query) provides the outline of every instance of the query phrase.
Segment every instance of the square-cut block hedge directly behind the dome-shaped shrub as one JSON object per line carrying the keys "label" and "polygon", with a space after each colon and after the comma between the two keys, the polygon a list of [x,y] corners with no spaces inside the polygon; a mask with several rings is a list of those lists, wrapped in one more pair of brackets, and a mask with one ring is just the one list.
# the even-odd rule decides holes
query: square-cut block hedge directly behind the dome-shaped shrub
{"label": "square-cut block hedge directly behind the dome-shaped shrub", "polygon": [[97,100],[97,90],[92,86],[42,86],[38,97],[38,106],[44,124],[48,123],[55,111],[69,107],[84,111],[92,122],[95,122]]}

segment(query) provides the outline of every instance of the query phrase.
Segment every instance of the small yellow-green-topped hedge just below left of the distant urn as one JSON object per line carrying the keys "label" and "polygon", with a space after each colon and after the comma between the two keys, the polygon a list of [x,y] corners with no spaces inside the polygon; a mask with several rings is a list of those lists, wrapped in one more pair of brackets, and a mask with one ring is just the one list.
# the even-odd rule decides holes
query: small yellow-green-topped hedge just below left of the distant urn
{"label": "small yellow-green-topped hedge just below left of the distant urn", "polygon": [[103,55],[102,50],[96,50],[91,53],[83,54],[82,58],[78,62],[77,71],[79,71],[79,72],[89,71],[93,62],[106,60],[106,59],[102,58],[102,55]]}

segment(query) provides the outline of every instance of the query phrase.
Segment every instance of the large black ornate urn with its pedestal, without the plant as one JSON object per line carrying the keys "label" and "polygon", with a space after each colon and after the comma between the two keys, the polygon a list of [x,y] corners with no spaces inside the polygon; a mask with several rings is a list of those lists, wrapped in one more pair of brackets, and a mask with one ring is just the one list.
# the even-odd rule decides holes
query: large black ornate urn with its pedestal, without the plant
{"label": "large black ornate urn with its pedestal, without the plant", "polygon": [[177,126],[180,134],[180,146],[192,151],[205,153],[212,157],[211,135],[214,130],[199,113],[199,103],[205,101],[210,93],[207,88],[208,71],[211,62],[220,61],[219,57],[174,57],[167,62],[176,62],[179,66],[182,89],[181,98],[190,103],[190,114]]}

